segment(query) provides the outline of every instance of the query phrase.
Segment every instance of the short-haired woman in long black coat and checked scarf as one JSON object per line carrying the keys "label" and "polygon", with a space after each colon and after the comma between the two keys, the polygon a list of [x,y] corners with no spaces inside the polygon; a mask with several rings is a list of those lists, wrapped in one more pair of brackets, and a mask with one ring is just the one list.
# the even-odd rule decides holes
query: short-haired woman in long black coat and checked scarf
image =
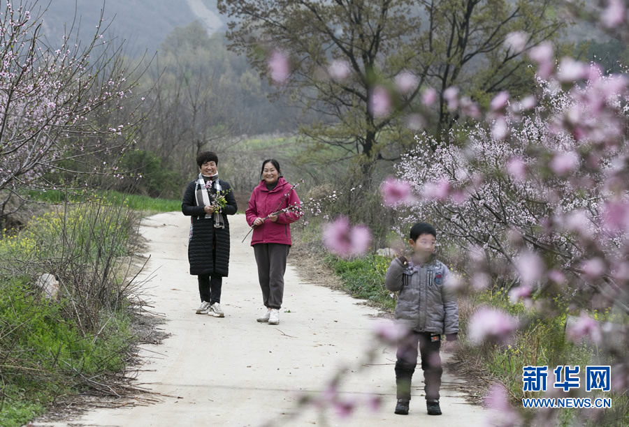
{"label": "short-haired woman in long black coat and checked scarf", "polygon": [[[191,181],[184,193],[181,211],[191,216],[188,241],[190,274],[198,276],[198,293],[201,306],[196,314],[224,317],[221,309],[223,278],[229,273],[229,221],[228,215],[238,210],[231,186],[219,179],[218,157],[204,151],[196,158],[200,170],[198,179]],[[217,195],[223,195],[226,206],[216,206]]]}

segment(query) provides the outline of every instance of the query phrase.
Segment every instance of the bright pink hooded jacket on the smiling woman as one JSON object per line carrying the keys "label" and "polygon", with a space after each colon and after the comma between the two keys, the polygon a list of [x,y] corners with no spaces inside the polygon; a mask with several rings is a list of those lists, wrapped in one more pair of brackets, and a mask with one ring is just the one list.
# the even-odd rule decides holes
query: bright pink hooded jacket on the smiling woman
{"label": "bright pink hooded jacket on the smiling woman", "polygon": [[[288,194],[288,195],[287,195]],[[284,195],[287,195],[284,197]],[[284,178],[280,177],[277,186],[273,190],[266,188],[266,181],[262,180],[254,188],[249,200],[249,208],[245,212],[247,223],[251,226],[256,218],[264,218],[270,213],[284,209],[289,204],[299,204],[299,197],[291,184]],[[260,243],[277,243],[291,245],[291,227],[290,223],[294,223],[299,219],[296,212],[280,213],[277,223],[271,220],[265,220],[262,225],[254,228],[251,238],[251,246]]]}

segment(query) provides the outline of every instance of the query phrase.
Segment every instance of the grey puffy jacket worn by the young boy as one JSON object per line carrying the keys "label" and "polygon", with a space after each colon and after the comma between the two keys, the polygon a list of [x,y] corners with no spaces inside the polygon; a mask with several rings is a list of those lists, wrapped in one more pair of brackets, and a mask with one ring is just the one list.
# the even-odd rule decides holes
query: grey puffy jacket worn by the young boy
{"label": "grey puffy jacket worn by the young boy", "polygon": [[386,271],[386,289],[399,291],[396,304],[398,323],[418,332],[458,333],[456,292],[444,286],[450,276],[448,267],[434,257],[411,269],[396,258]]}

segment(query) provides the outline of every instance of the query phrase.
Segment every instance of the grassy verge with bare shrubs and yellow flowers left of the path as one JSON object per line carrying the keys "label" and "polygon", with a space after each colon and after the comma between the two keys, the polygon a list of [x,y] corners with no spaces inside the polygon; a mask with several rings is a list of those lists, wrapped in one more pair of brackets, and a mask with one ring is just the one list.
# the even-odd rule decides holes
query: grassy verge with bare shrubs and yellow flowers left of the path
{"label": "grassy verge with bare shrubs and yellow flowers left of the path", "polygon": [[[131,200],[109,194],[68,202],[19,231],[3,230],[1,426],[21,426],[73,394],[120,396],[125,389],[111,379],[131,360],[131,319],[142,304],[128,298],[138,290],[131,263],[140,213]],[[57,277],[56,297],[36,286],[41,274]]]}

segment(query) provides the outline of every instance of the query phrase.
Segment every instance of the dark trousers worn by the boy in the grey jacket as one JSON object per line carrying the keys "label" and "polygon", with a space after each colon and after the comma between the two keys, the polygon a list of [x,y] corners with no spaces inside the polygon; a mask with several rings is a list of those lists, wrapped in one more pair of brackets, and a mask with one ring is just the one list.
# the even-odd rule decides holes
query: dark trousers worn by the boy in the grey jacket
{"label": "dark trousers worn by the boy in the grey jacket", "polygon": [[410,400],[411,380],[417,366],[417,345],[421,357],[421,369],[424,370],[424,391],[426,399],[439,399],[441,388],[441,336],[426,332],[411,331],[398,344],[396,361],[396,384],[398,399]]}

